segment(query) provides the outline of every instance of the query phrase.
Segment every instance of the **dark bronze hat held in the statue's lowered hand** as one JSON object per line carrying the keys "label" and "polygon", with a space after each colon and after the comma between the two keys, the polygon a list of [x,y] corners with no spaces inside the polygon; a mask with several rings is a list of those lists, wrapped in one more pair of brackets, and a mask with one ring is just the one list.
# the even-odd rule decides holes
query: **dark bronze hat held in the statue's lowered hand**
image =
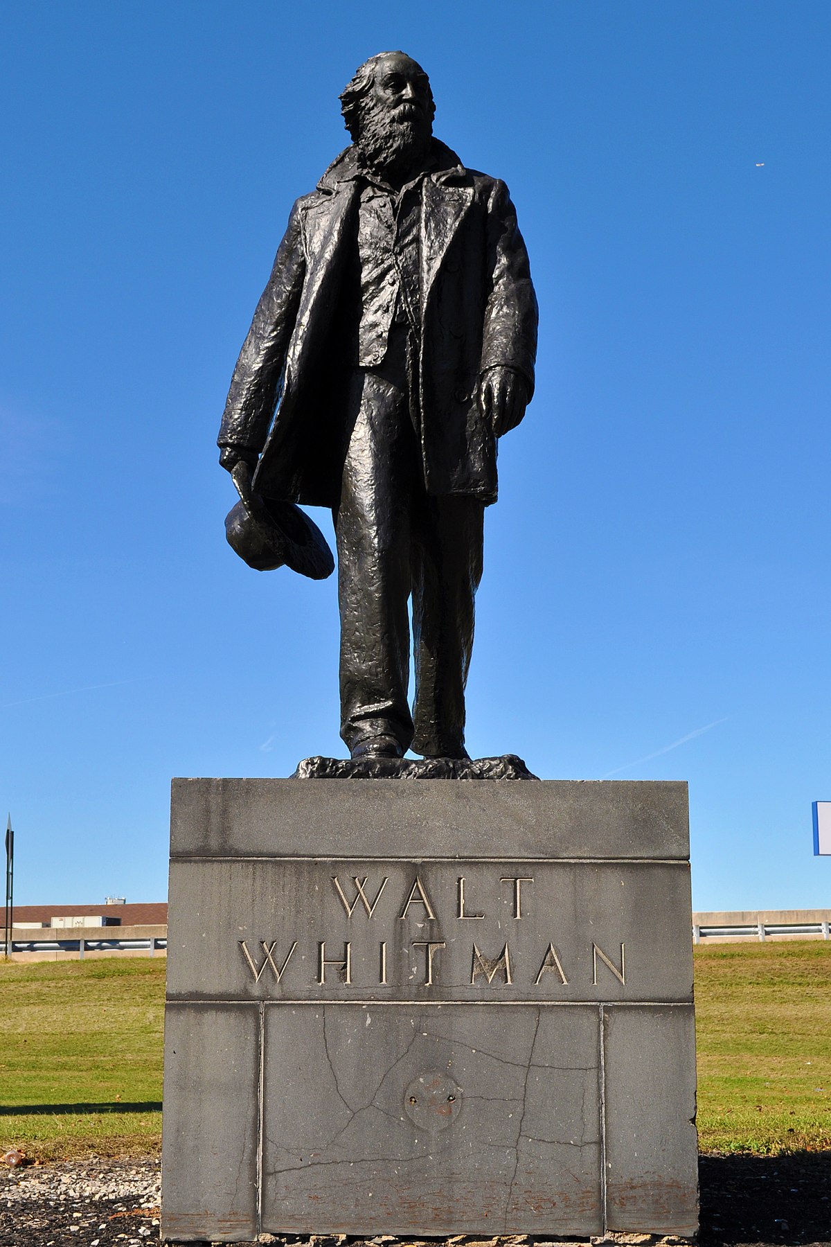
{"label": "dark bronze hat held in the statue's lowered hand", "polygon": [[331,550],[305,511],[294,503],[278,503],[255,494],[244,464],[237,464],[230,475],[239,501],[226,516],[226,536],[249,567],[274,571],[285,564],[310,580],[325,580],[333,574]]}

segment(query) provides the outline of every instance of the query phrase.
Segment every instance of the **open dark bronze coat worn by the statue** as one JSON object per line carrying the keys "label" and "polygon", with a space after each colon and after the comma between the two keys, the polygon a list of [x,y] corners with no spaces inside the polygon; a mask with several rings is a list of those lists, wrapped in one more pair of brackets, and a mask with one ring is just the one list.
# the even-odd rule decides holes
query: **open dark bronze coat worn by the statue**
{"label": "open dark bronze coat worn by the statue", "polygon": [[[414,419],[430,494],[496,501],[496,439],[476,403],[495,364],[533,390],[537,301],[507,187],[434,140],[421,205],[421,334]],[[298,200],[237,360],[219,445],[260,453],[255,488],[334,506],[344,420],[341,291],[355,252],[354,148]]]}

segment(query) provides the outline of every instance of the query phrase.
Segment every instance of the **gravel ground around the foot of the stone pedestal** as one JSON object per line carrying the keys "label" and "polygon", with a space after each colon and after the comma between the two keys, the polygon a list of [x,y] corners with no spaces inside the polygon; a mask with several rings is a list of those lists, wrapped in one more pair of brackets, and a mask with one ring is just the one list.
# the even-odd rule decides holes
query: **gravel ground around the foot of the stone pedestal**
{"label": "gravel ground around the foot of the stone pedestal", "polygon": [[[700,1175],[700,1247],[831,1247],[830,1152],[703,1156]],[[0,1247],[158,1245],[159,1191],[158,1161],[67,1162],[0,1172]],[[285,1247],[358,1247],[363,1242],[340,1235],[263,1236],[260,1241]],[[637,1235],[615,1236],[615,1241],[657,1242]],[[373,1247],[397,1247],[397,1242],[369,1240]],[[416,1247],[412,1240],[400,1242]],[[517,1237],[460,1236],[451,1242],[452,1247],[533,1247],[533,1240]]]}

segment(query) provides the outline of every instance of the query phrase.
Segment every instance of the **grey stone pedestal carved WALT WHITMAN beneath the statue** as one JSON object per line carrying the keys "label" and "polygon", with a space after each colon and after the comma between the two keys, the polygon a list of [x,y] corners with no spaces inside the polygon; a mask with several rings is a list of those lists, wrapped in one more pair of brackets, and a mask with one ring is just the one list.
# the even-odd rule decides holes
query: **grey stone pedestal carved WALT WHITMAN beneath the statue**
{"label": "grey stone pedestal carved WALT WHITMAN beneath the statue", "polygon": [[162,1233],[696,1231],[686,786],[173,783]]}

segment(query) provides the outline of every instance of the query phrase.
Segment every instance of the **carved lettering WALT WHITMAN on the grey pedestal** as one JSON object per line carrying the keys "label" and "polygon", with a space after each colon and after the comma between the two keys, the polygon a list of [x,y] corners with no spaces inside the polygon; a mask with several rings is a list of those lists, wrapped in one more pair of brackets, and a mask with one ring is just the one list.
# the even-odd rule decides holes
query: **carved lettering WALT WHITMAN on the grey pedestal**
{"label": "carved lettering WALT WHITMAN on the grey pedestal", "polygon": [[[579,999],[581,990],[588,988],[605,993],[615,984],[617,991],[627,985],[625,944],[610,945],[604,939],[602,946],[591,936],[581,938],[579,932],[566,932],[563,944],[556,902],[534,887],[532,874],[493,872],[488,883],[480,869],[473,885],[463,874],[453,875],[451,885],[446,878],[442,883],[441,875],[421,878],[415,872],[404,879],[397,874],[394,882],[389,867],[387,872],[374,877],[330,874],[330,899],[326,902],[324,893],[320,907],[320,935],[328,938],[311,946],[306,941],[304,948],[300,934],[293,938],[290,928],[288,939],[238,940],[253,983],[278,985],[282,995],[290,995],[292,989],[303,991],[304,985],[308,990],[311,984],[355,989],[355,994],[361,988],[442,989],[441,999],[447,993],[467,999],[465,989],[470,993],[476,988],[475,999],[482,1000],[516,988],[522,988],[527,999],[568,1000]],[[333,918],[336,927],[326,933],[325,924]],[[344,922],[355,945],[351,938],[343,938]],[[477,924],[476,940],[461,934],[471,932],[470,922]],[[515,923],[522,927],[515,928]],[[370,938],[366,924],[387,938]],[[554,924],[561,936],[557,943],[552,938]],[[513,934],[506,938],[508,928]]]}

